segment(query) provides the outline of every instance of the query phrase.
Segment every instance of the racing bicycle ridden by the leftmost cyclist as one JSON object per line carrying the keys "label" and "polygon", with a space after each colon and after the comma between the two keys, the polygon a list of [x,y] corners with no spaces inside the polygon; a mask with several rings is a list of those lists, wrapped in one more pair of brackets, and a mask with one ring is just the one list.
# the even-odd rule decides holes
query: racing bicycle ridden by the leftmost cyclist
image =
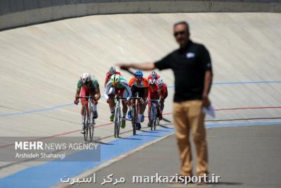
{"label": "racing bicycle ridden by the leftmost cyclist", "polygon": [[[88,135],[90,136],[90,140],[93,141],[93,130],[94,130],[94,125],[96,125],[96,121],[93,118],[93,104],[91,99],[96,99],[93,96],[79,96],[79,99],[86,99],[87,104],[84,107],[84,120],[83,120],[83,129],[84,129],[84,140],[85,142],[88,141]],[[88,115],[88,109],[90,115]]]}

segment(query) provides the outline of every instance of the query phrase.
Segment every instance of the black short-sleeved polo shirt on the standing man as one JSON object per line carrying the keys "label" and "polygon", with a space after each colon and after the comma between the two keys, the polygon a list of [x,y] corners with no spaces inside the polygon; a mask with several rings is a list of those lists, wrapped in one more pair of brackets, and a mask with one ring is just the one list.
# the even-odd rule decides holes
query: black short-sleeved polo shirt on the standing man
{"label": "black short-sleeved polo shirt on the standing man", "polygon": [[191,40],[185,49],[177,49],[155,63],[159,70],[171,68],[175,75],[174,101],[202,99],[204,75],[211,70],[209,52]]}

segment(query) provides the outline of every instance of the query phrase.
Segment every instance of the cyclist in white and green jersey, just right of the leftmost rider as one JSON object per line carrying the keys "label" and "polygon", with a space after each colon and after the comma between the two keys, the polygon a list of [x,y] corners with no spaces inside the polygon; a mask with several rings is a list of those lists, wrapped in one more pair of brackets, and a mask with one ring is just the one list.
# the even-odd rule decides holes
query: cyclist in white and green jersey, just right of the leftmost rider
{"label": "cyclist in white and green jersey, just right of the leftmost rider", "polygon": [[112,75],[110,81],[107,82],[105,87],[105,99],[110,105],[110,121],[113,121],[115,118],[115,100],[112,99],[114,96],[120,96],[126,98],[126,101],[122,100],[123,105],[123,118],[122,118],[122,129],[126,126],[126,113],[128,110],[128,101],[131,98],[131,88],[129,87],[127,81],[121,75]]}

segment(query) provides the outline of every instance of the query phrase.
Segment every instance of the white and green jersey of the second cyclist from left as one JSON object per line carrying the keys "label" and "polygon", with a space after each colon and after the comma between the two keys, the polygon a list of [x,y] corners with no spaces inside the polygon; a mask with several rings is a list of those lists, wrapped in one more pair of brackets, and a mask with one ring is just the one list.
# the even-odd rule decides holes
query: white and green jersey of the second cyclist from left
{"label": "white and green jersey of the second cyclist from left", "polygon": [[117,84],[116,87],[112,85],[111,81],[107,82],[105,86],[105,94],[104,94],[105,99],[109,98],[108,96],[109,94],[118,94],[119,91],[121,92],[120,96],[127,99],[131,98],[131,88],[129,87],[125,78],[122,76],[120,78],[119,84]]}

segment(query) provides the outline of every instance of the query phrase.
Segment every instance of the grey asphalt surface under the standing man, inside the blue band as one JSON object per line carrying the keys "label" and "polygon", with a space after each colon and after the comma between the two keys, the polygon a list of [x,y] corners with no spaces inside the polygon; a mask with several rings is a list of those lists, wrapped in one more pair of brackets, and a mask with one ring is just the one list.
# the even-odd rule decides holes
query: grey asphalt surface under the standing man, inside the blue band
{"label": "grey asphalt surface under the standing man, inside the blue band", "polygon": [[[281,125],[222,127],[207,130],[210,174],[220,175],[218,184],[188,187],[281,187]],[[193,149],[194,151],[194,149]],[[195,152],[193,152],[195,153]],[[174,134],[98,170],[96,183],[71,187],[185,187],[181,184],[133,184],[133,175],[175,175],[180,161]],[[94,172],[93,172],[94,173]],[[126,182],[101,185],[104,177]],[[106,180],[109,180],[106,178]]]}

